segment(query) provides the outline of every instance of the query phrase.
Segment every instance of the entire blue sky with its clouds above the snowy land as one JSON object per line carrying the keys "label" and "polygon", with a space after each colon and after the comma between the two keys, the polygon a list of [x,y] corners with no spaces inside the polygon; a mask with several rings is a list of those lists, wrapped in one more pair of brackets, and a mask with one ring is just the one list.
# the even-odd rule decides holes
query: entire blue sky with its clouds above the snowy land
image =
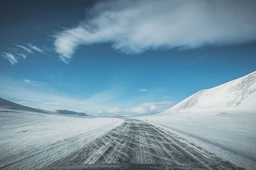
{"label": "entire blue sky with its clouds above the snowy land", "polygon": [[153,113],[255,71],[253,1],[148,2],[5,1],[0,96],[47,110]]}

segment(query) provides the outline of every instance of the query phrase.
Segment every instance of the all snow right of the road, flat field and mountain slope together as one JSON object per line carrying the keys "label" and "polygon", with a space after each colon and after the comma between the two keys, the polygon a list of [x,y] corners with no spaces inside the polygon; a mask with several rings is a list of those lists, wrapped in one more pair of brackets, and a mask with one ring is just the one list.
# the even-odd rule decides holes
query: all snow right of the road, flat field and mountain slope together
{"label": "all snow right of the road, flat field and mountain slope together", "polygon": [[[145,121],[145,117],[137,117]],[[237,166],[256,167],[256,71],[200,90],[172,108],[148,115],[159,125]]]}

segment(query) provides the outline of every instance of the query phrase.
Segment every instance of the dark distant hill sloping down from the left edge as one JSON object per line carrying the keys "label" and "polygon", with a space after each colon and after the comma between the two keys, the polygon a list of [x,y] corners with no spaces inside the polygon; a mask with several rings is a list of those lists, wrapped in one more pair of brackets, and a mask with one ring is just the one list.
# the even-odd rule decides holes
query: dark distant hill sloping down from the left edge
{"label": "dark distant hill sloping down from the left edge", "polygon": [[49,111],[46,110],[40,110],[36,108],[31,108],[28,106],[23,106],[21,104],[13,103],[12,101],[7,101],[0,97],[0,107],[11,109],[11,110],[22,110],[22,111],[31,111],[31,112],[38,112],[38,113],[49,113]]}

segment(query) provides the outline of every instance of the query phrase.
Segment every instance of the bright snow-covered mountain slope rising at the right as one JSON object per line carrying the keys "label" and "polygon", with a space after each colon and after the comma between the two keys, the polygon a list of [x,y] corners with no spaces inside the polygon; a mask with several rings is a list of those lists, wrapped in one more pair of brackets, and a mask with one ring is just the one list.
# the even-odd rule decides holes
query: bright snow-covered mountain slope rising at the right
{"label": "bright snow-covered mountain slope rising at the right", "polygon": [[223,110],[256,112],[256,71],[217,87],[200,90],[163,113]]}

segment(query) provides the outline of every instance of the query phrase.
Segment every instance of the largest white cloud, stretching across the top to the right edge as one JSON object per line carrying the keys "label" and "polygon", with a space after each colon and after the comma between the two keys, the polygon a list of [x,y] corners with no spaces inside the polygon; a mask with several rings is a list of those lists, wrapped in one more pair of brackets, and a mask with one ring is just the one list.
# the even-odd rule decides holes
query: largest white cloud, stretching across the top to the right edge
{"label": "largest white cloud, stretching across the top to the right edge", "polygon": [[125,53],[157,48],[232,45],[256,39],[255,1],[103,1],[77,27],[56,34],[68,62],[79,45],[112,43]]}

